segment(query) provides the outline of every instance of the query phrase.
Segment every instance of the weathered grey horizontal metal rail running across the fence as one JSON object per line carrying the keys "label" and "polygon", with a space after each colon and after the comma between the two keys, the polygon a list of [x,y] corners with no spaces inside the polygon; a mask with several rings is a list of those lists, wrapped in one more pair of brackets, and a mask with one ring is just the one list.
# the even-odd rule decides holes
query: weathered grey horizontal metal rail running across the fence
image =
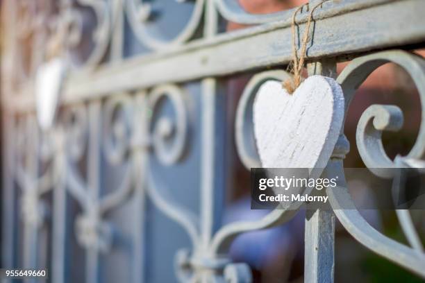
{"label": "weathered grey horizontal metal rail running across the fence", "polygon": [[[344,58],[351,53],[423,42],[425,8],[421,0],[372,1],[374,6],[371,3],[365,5],[365,1],[349,2],[347,10],[334,4],[328,10],[324,6],[324,10],[315,12],[315,31],[321,32],[315,33],[314,44],[308,46],[309,58]],[[308,12],[301,13],[299,22],[305,22],[307,15]],[[67,81],[63,102],[74,103],[128,89],[288,63],[292,58],[289,16],[279,22],[216,35],[214,40],[198,40],[167,52],[101,67],[93,74],[78,71]],[[303,33],[302,29],[303,25],[299,34]],[[28,86],[22,100],[13,97],[10,108],[31,108],[33,98],[30,93],[31,87]]]}

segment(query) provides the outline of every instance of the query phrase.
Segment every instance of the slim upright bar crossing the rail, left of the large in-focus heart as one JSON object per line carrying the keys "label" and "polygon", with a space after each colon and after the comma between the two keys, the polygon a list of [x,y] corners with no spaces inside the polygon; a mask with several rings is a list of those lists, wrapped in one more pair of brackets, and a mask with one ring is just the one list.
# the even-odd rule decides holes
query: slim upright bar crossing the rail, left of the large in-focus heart
{"label": "slim upright bar crossing the rail, left of the large in-focus heart", "polygon": [[[204,37],[213,38],[218,31],[218,14],[214,1],[206,1]],[[217,78],[201,80],[201,243],[208,255],[213,234],[222,222],[225,191],[225,98]],[[203,282],[213,282],[213,271],[206,271]]]}

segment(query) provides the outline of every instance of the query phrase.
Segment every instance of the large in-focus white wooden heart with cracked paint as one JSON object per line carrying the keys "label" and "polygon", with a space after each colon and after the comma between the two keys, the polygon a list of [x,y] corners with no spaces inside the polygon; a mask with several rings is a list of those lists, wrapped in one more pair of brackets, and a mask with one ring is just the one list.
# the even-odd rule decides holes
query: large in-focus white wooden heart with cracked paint
{"label": "large in-focus white wooden heart with cracked paint", "polygon": [[253,104],[254,135],[264,168],[319,169],[331,157],[344,120],[344,96],[338,83],[310,76],[294,94],[268,80]]}

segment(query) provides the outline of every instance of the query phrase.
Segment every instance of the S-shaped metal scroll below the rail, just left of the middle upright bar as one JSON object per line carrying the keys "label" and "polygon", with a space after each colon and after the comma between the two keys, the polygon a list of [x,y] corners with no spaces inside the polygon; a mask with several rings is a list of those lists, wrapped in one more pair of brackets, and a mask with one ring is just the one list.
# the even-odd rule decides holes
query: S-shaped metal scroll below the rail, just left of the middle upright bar
{"label": "S-shaped metal scroll below the rail, just left of the middle upright bar", "polygon": [[[176,85],[162,85],[151,90],[148,99],[142,103],[146,112],[147,135],[149,135],[149,148],[152,148],[160,163],[171,166],[181,160],[185,151],[188,136],[188,117],[185,109],[183,89]],[[142,94],[141,98],[144,96]],[[160,105],[169,101],[174,112],[174,119],[161,116]],[[169,218],[181,225],[192,240],[192,245],[197,246],[199,241],[199,220],[189,209],[179,205],[170,195],[167,187],[146,167],[147,195],[152,202]]]}

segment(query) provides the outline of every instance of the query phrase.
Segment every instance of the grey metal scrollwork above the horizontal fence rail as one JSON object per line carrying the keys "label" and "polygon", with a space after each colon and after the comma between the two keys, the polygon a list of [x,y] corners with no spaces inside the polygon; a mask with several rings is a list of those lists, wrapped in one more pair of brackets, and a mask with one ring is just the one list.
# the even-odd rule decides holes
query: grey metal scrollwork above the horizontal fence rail
{"label": "grey metal scrollwork above the horizontal fence rail", "polygon": [[[384,1],[384,0],[381,0]],[[173,50],[178,46],[208,38],[210,31],[217,33],[218,15],[238,24],[265,24],[285,22],[290,24],[293,9],[265,15],[253,15],[243,10],[235,0],[196,1],[145,1],[145,0],[19,0],[12,12],[19,17],[13,36],[19,56],[15,58],[15,75],[19,82],[32,78],[34,72],[49,57],[51,46],[59,44],[62,55],[79,71],[94,69],[110,58],[113,62],[122,57],[125,41],[124,17],[144,48],[152,51]],[[347,11],[359,9],[370,3],[324,3],[328,10]],[[335,12],[335,11],[333,11]],[[89,17],[90,15],[90,17]],[[299,23],[306,20],[308,6],[299,13]],[[170,17],[188,18],[178,25],[163,22]],[[181,22],[185,24],[180,24]],[[176,27],[178,26],[178,28]],[[173,34],[172,34],[173,33]],[[109,47],[109,51],[108,51]]]}

